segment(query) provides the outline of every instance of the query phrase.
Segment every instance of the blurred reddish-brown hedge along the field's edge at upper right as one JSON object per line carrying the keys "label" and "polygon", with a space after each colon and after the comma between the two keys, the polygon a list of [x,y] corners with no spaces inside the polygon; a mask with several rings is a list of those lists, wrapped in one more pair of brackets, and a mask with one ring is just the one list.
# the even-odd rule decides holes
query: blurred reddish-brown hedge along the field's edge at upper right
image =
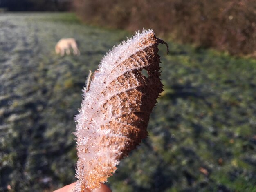
{"label": "blurred reddish-brown hedge along the field's edge at upper right", "polygon": [[152,28],[158,36],[256,56],[256,0],[74,0],[73,5],[92,24]]}

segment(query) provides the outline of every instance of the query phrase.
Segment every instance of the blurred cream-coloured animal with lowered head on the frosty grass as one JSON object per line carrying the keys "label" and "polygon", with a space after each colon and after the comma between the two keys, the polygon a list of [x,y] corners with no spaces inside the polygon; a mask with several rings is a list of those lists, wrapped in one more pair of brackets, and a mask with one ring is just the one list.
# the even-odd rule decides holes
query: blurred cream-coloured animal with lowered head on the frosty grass
{"label": "blurred cream-coloured animal with lowered head on the frosty grass", "polygon": [[80,51],[77,48],[76,40],[74,38],[66,38],[59,40],[55,46],[55,52],[56,54],[61,54],[61,56],[64,56],[65,52],[67,55],[69,55],[70,48],[73,49],[74,55],[80,55]]}

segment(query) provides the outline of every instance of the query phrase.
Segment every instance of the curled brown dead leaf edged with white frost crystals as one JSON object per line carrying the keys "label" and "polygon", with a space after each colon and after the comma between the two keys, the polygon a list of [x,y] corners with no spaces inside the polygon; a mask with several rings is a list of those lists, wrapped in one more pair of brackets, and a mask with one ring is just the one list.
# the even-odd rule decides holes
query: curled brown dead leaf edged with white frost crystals
{"label": "curled brown dead leaf edged with white frost crystals", "polygon": [[[166,44],[153,30],[137,32],[113,47],[88,79],[75,117],[75,191],[98,188],[117,170],[120,159],[146,138],[149,116],[163,86],[159,43]],[[147,71],[147,77],[142,70]]]}

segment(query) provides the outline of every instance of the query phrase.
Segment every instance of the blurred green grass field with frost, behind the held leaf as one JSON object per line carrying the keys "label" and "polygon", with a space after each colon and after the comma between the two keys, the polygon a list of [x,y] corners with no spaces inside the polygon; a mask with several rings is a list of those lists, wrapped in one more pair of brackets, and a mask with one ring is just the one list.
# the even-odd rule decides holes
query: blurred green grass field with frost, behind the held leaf
{"label": "blurred green grass field with frost, behind the held leaf", "polygon": [[[0,191],[75,181],[73,116],[88,71],[127,31],[70,13],[0,16]],[[157,35],[157,34],[156,34]],[[54,52],[74,37],[81,56]],[[168,42],[149,138],[109,179],[113,192],[256,191],[256,60]]]}

